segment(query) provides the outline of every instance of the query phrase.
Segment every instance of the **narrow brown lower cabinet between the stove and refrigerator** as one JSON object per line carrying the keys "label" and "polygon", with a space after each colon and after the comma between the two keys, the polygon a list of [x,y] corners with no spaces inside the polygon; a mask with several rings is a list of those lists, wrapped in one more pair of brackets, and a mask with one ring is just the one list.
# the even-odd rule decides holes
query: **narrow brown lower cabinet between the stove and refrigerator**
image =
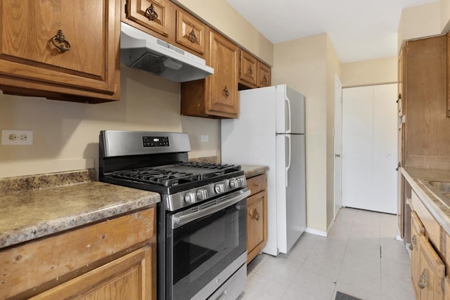
{"label": "narrow brown lower cabinet between the stove and refrigerator", "polygon": [[250,196],[247,199],[247,263],[266,247],[267,190],[266,174],[247,178]]}

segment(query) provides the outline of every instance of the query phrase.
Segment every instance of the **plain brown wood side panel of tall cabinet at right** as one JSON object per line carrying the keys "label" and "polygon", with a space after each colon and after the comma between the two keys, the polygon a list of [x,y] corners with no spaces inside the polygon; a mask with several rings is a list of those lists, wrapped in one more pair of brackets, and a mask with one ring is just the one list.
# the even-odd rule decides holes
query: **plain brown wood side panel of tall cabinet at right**
{"label": "plain brown wood side panel of tall cabinet at right", "polygon": [[447,53],[446,36],[407,41],[403,49],[406,167],[450,168]]}

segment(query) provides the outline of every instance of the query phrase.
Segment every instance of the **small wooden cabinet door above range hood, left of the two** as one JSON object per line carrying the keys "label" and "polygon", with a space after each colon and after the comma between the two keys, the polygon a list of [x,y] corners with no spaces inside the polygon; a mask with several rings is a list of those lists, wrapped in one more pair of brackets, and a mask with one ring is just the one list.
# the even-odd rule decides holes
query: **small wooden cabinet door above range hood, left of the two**
{"label": "small wooden cabinet door above range hood, left of the two", "polygon": [[167,30],[167,1],[127,0],[127,19],[153,30],[163,37],[169,37]]}

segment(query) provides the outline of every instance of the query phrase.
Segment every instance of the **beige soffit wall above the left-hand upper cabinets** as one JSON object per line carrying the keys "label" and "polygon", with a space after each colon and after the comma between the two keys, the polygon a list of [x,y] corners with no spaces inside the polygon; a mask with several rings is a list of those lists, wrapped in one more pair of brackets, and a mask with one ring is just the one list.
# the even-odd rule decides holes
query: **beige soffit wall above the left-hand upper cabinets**
{"label": "beige soffit wall above the left-hand upper cabinets", "polygon": [[212,27],[226,34],[269,65],[274,65],[274,45],[238,14],[225,0],[175,0],[195,12]]}

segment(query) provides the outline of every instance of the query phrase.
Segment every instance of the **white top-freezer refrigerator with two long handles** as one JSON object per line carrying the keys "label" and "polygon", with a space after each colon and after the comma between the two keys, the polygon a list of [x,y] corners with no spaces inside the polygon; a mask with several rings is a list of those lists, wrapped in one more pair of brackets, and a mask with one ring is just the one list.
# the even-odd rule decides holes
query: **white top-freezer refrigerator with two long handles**
{"label": "white top-freezer refrigerator with two long handles", "polygon": [[267,172],[267,244],[288,253],[306,228],[304,96],[286,85],[240,91],[238,119],[221,120],[221,162]]}

